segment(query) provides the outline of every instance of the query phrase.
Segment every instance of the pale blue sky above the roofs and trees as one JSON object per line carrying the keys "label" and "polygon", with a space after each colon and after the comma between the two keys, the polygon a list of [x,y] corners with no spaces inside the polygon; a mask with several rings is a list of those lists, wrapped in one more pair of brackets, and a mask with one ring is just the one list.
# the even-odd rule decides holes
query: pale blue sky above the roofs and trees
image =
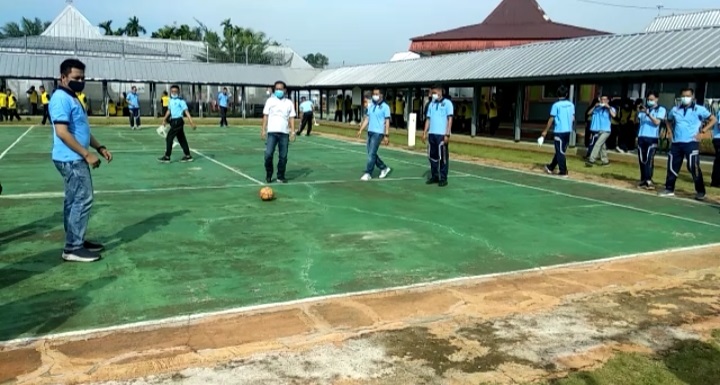
{"label": "pale blue sky above the roofs and trees", "polygon": [[[7,0],[0,0],[7,1]],[[0,24],[24,17],[52,20],[65,0],[22,0],[3,6]],[[261,30],[301,55],[320,52],[331,66],[387,61],[407,51],[410,38],[477,24],[500,0],[74,0],[92,23],[114,20],[119,27],[137,16],[148,34],[163,25],[211,28],[228,17],[234,24]],[[551,20],[612,33],[641,32],[658,15],[720,8],[718,0],[538,0]],[[603,4],[616,4],[614,7]],[[108,6],[112,4],[112,6]]]}

